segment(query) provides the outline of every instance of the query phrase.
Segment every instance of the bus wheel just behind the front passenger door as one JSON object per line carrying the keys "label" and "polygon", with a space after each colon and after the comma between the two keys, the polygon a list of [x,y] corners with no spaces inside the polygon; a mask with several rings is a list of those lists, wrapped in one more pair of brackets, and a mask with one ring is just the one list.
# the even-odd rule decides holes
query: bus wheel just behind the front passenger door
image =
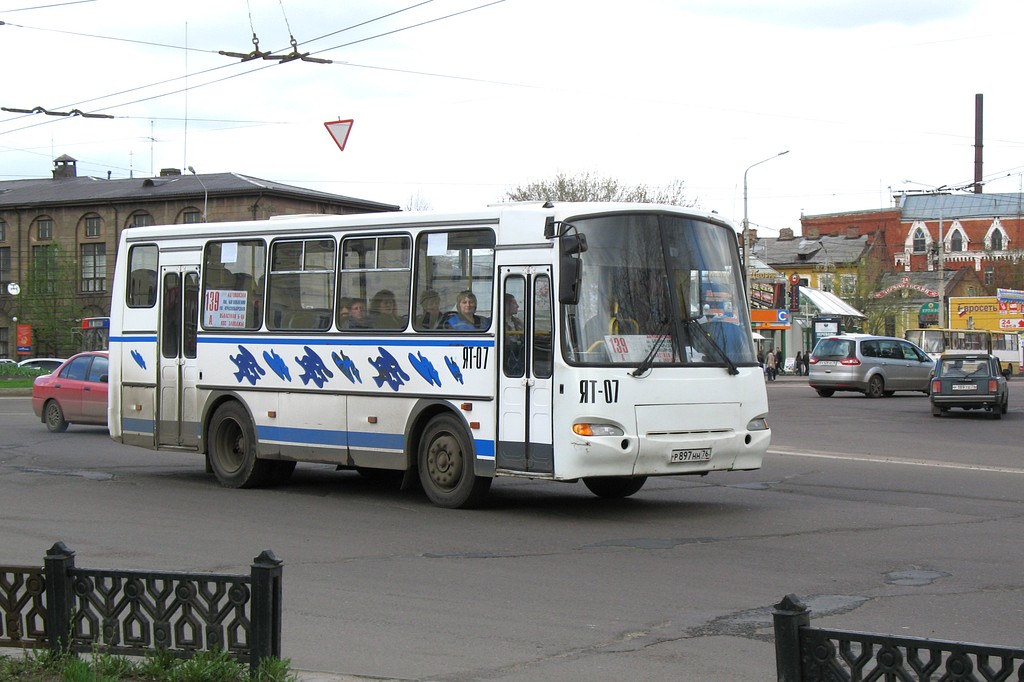
{"label": "bus wheel just behind the front passenger door", "polygon": [[427,423],[417,464],[423,492],[438,507],[476,506],[490,488],[489,477],[476,475],[466,429],[451,415],[438,415]]}

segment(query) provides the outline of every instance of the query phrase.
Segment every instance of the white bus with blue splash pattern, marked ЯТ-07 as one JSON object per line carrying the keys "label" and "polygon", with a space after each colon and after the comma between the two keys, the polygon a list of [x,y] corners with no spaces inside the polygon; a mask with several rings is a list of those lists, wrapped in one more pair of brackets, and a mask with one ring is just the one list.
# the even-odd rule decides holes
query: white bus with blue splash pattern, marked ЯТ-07
{"label": "white bus with blue splash pattern, marked \u042f\u0422-07", "polygon": [[403,471],[443,507],[498,476],[625,497],[648,476],[761,466],[750,329],[735,230],[690,209],[132,227],[109,424],[205,456],[228,487],[316,462]]}

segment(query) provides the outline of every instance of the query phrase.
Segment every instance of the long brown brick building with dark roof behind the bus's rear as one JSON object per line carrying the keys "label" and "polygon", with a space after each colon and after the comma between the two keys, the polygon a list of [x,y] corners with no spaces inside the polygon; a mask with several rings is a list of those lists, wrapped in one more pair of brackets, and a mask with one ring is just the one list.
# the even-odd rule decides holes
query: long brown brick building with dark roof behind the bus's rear
{"label": "long brown brick building with dark roof behind the bus's rear", "polygon": [[[159,177],[111,179],[80,177],[69,156],[53,164],[52,178],[0,181],[0,357],[16,356],[18,296],[28,293],[33,272],[54,267],[53,247],[78,272],[75,291],[55,293],[75,298],[79,317],[108,315],[118,242],[133,226],[399,210],[239,173],[165,169]],[[50,346],[62,356],[77,350],[65,342]]]}

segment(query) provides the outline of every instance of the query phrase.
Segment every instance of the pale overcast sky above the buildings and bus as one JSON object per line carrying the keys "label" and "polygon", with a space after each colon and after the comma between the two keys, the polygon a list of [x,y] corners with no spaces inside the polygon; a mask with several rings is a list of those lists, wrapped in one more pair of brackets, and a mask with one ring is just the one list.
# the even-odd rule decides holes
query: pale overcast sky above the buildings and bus
{"label": "pale overcast sky above the buildings and bus", "polygon": [[[1020,191],[1020,0],[0,0],[0,180],[237,172],[447,210],[563,172],[762,236],[974,178]],[[219,50],[332,63],[243,62]],[[344,152],[324,127],[353,119]],[[788,154],[774,158],[780,152]],[[913,183],[906,183],[911,180]]]}

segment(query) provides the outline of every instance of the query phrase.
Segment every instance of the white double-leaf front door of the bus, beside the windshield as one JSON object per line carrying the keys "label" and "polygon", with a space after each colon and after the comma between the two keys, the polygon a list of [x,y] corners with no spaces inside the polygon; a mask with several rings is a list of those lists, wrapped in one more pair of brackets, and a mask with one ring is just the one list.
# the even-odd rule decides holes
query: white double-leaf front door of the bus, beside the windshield
{"label": "white double-leaf front door of the bus, beside the windshield", "polygon": [[496,466],[554,473],[551,268],[502,267]]}

